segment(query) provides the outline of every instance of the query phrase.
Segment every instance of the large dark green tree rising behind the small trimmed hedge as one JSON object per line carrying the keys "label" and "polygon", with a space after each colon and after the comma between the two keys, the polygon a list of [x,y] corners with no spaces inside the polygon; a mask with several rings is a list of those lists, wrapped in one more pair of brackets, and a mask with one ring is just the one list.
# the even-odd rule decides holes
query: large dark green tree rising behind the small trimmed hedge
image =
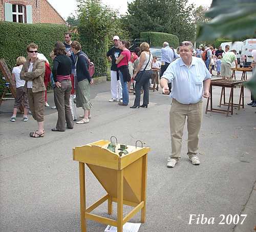
{"label": "large dark green tree rising behind the small trimmed hedge", "polygon": [[133,38],[154,31],[177,35],[180,41],[194,40],[194,8],[188,0],[135,0],[128,4],[129,14],[122,20]]}

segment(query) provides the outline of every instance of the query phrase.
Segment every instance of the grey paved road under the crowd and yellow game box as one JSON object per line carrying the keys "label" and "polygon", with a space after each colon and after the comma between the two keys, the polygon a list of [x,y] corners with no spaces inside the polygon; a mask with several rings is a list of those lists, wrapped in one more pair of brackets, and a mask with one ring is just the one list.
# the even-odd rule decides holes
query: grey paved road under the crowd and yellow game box
{"label": "grey paved road under the crowd and yellow game box", "polygon": [[[109,82],[92,87],[93,118],[89,124],[76,124],[74,130],[51,132],[57,113],[47,109],[46,136],[38,139],[28,137],[36,126],[32,117],[28,122],[21,117],[10,122],[11,114],[7,112],[12,111],[12,103],[4,102],[0,109],[0,231],[80,231],[78,163],[72,160],[72,147],[110,139],[112,135],[131,145],[140,139],[152,149],[148,154],[146,223],[140,232],[232,231],[233,224],[219,225],[220,215],[240,214],[252,191],[256,179],[256,109],[245,106],[234,110],[232,117],[204,114],[201,165],[191,165],[186,157],[184,130],[182,160],[169,169],[169,98],[151,91],[147,109],[130,109],[108,102],[109,88]],[[234,99],[238,99],[239,90]],[[219,95],[216,87],[216,106]],[[134,96],[130,97],[132,102]],[[246,89],[245,102],[249,101]],[[88,204],[104,194],[88,169],[87,187]],[[131,208],[124,207],[125,212],[128,210]],[[102,216],[106,212],[106,204],[95,210]],[[215,217],[215,224],[189,225],[190,214]],[[137,215],[131,221],[139,222],[139,218]],[[105,225],[88,221],[88,231],[100,232],[104,228]]]}

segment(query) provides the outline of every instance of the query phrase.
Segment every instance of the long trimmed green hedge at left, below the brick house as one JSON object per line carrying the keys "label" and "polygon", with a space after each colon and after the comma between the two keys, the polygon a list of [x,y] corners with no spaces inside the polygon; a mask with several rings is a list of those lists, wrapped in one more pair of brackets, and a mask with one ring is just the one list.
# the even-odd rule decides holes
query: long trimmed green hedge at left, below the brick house
{"label": "long trimmed green hedge at left, below the brick house", "polygon": [[66,25],[0,22],[0,58],[5,59],[11,70],[17,57],[27,57],[26,47],[34,42],[38,45],[39,53],[44,54],[51,63],[49,53],[56,41],[63,41],[63,35],[67,31]]}

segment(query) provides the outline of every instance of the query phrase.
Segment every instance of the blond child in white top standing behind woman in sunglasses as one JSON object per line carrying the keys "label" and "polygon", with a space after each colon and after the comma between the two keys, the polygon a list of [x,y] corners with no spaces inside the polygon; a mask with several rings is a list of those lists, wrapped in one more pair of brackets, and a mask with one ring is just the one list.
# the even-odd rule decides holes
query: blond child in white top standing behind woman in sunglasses
{"label": "blond child in white top standing behind woman in sunglasses", "polygon": [[24,63],[26,62],[25,57],[18,57],[16,61],[16,67],[12,69],[12,78],[15,80],[16,83],[16,97],[15,97],[15,103],[13,107],[13,114],[11,117],[11,121],[16,121],[16,115],[18,108],[22,104],[22,99],[24,102],[24,115],[23,115],[23,121],[28,121],[28,111],[29,111],[29,100],[28,100],[28,94],[25,92],[24,86],[25,81],[20,80],[20,71],[22,71],[22,67]]}

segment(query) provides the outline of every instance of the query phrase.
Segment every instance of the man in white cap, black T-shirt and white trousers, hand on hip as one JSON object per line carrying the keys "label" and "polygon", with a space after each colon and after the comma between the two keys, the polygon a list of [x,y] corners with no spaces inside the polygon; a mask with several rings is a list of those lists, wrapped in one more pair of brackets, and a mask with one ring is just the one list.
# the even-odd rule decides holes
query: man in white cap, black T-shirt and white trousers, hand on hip
{"label": "man in white cap, black T-shirt and white trousers, hand on hip", "polygon": [[116,60],[121,53],[121,49],[119,49],[119,42],[120,39],[118,36],[113,37],[114,46],[111,47],[106,53],[109,61],[111,61],[111,68],[110,68],[110,78],[111,78],[111,95],[112,98],[109,100],[110,102],[113,101],[121,101],[122,99],[122,86],[119,80],[119,74],[117,69]]}

